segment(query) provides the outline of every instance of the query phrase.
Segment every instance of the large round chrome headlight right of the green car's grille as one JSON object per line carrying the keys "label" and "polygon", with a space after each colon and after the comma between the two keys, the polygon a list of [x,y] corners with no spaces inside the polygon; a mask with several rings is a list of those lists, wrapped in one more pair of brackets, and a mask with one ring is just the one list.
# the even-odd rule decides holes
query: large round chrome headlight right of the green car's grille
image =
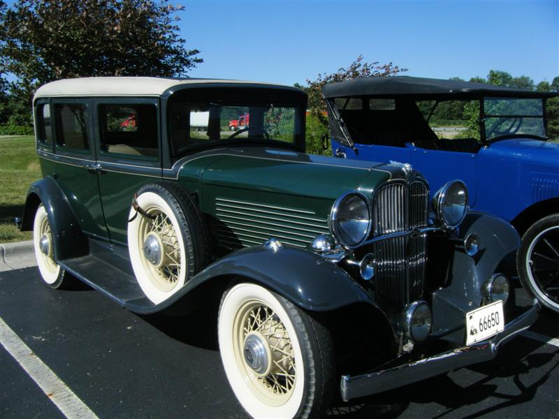
{"label": "large round chrome headlight right of the green car's grille", "polygon": [[458,227],[467,212],[467,188],[464,182],[452,180],[444,185],[435,193],[433,207],[445,227]]}

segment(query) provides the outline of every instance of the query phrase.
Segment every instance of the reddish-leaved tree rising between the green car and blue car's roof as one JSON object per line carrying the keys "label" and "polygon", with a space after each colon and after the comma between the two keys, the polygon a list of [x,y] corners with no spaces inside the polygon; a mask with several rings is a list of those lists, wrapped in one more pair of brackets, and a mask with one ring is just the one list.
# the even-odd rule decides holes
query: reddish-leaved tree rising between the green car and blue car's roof
{"label": "reddish-leaved tree rising between the green car and blue car's roof", "polygon": [[316,80],[307,79],[307,85],[301,86],[309,96],[307,115],[307,152],[310,154],[331,154],[322,147],[322,138],[328,135],[328,118],[326,117],[326,103],[322,97],[322,87],[330,82],[343,82],[359,77],[386,77],[407,71],[407,68],[394,66],[392,63],[379,65],[378,61],[368,63],[360,55],[347,68],[340,68],[335,73],[319,74]]}

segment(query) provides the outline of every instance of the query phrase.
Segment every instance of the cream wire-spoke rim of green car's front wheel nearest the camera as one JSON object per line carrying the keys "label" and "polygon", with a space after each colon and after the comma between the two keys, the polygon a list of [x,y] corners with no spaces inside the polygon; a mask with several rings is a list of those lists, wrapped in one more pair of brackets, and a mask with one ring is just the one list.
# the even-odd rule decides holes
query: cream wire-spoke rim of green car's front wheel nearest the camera
{"label": "cream wire-spoke rim of green car's front wheel nearest the camera", "polygon": [[[266,346],[266,372],[256,372],[247,361],[248,337],[258,336]],[[240,307],[233,321],[233,351],[238,368],[245,372],[254,396],[270,406],[281,406],[296,385],[293,344],[284,323],[263,301],[249,300]]]}

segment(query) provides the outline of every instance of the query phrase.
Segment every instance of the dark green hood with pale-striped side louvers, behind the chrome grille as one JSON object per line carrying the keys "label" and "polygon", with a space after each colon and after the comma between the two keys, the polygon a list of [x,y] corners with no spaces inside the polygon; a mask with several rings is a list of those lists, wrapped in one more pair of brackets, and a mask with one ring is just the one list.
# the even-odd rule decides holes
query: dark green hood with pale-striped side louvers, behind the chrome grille
{"label": "dark green hood with pale-striped side louvers, behind the chrome grille", "polygon": [[419,176],[397,163],[265,147],[212,150],[189,159],[179,180],[199,181],[208,226],[219,245],[231,249],[270,237],[308,248],[314,237],[329,233],[333,204],[344,193],[358,190],[370,197],[391,179]]}

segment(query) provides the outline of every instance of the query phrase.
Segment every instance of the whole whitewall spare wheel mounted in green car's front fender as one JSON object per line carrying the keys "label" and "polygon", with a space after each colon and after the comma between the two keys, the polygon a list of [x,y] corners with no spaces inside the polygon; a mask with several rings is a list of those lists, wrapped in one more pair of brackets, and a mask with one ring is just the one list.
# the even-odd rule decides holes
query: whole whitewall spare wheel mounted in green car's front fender
{"label": "whole whitewall spare wheel mounted in green car's front fender", "polygon": [[210,237],[198,206],[180,186],[147,184],[136,203],[128,223],[130,260],[145,296],[159,304],[208,264]]}

